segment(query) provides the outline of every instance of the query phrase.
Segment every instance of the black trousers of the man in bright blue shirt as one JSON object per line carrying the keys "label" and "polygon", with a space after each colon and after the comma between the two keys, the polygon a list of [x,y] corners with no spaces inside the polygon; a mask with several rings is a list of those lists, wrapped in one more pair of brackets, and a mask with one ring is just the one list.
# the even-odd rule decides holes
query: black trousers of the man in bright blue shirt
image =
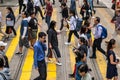
{"label": "black trousers of the man in bright blue shirt", "polygon": [[47,79],[47,68],[45,60],[38,61],[38,72],[39,76],[34,80],[46,80]]}

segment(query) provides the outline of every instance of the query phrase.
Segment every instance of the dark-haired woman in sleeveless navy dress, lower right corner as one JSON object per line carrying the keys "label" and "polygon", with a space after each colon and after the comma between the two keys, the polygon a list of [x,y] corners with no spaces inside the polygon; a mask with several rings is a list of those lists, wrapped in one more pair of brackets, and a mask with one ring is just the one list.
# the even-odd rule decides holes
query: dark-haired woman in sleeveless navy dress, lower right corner
{"label": "dark-haired woman in sleeveless navy dress, lower right corner", "polygon": [[115,53],[113,49],[116,47],[116,41],[114,39],[111,39],[107,45],[107,74],[106,78],[107,80],[118,80],[118,72],[116,65],[119,63],[119,60],[116,59]]}

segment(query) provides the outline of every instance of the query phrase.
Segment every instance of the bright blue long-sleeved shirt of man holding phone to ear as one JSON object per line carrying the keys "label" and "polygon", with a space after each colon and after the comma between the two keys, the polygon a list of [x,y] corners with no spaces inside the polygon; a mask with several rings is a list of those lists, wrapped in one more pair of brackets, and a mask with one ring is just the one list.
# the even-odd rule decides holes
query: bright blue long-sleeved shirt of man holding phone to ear
{"label": "bright blue long-sleeved shirt of man holding phone to ear", "polygon": [[46,44],[37,41],[34,44],[34,66],[38,67],[37,61],[42,61],[45,59],[45,50],[47,49]]}

